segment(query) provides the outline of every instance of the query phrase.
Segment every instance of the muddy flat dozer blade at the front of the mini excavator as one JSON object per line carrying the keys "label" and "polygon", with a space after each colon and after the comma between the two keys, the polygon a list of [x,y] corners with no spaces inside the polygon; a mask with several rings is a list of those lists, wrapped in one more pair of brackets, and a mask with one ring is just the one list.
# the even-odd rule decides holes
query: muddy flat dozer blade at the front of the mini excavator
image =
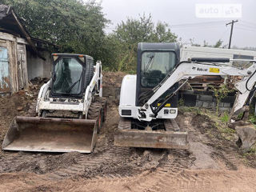
{"label": "muddy flat dozer blade at the front of the mini excavator", "polygon": [[114,135],[115,146],[189,149],[187,132],[131,129],[130,120],[124,118],[120,119],[118,128],[118,132]]}

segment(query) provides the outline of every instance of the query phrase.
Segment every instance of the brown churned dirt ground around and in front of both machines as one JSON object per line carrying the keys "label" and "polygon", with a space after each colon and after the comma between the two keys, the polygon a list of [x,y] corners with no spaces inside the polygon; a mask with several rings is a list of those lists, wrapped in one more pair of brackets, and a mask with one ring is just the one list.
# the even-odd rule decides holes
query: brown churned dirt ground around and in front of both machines
{"label": "brown churned dirt ground around and in front of both machines", "polygon": [[[103,89],[121,86],[123,75],[106,73]],[[27,114],[38,87],[0,98],[1,143],[12,118]],[[178,114],[189,150],[114,146],[118,118],[110,103],[92,154],[1,151],[0,191],[256,191],[255,154],[242,154],[236,135],[224,137],[205,114]]]}

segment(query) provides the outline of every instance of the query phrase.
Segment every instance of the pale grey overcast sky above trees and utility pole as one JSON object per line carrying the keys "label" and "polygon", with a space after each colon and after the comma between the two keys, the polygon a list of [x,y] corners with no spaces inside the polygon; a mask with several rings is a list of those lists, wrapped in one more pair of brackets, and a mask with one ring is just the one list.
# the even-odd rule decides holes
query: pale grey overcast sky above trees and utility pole
{"label": "pale grey overcast sky above trees and utility pole", "polygon": [[[138,14],[151,14],[154,22],[166,22],[170,29],[182,38],[182,42],[194,42],[202,44],[204,40],[214,44],[222,39],[223,44],[229,42],[230,22],[236,18],[197,18],[195,5],[198,3],[238,3],[242,4],[242,18],[234,23],[232,46],[256,46],[256,1],[255,0],[98,0],[102,2],[103,12],[112,24],[106,31],[114,30],[114,27],[126,18],[138,18]],[[204,23],[186,26],[188,23]],[[182,25],[182,26],[177,26]],[[172,27],[173,26],[173,27]]]}

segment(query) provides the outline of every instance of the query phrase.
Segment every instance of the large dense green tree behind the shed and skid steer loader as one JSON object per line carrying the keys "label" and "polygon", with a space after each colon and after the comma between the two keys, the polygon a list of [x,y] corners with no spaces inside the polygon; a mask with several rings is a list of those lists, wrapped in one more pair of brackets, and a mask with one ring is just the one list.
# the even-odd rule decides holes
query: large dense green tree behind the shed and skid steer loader
{"label": "large dense green tree behind the shed and skid steer loader", "polygon": [[95,1],[2,0],[15,12],[33,37],[62,46],[62,51],[90,54],[98,59],[109,22]]}

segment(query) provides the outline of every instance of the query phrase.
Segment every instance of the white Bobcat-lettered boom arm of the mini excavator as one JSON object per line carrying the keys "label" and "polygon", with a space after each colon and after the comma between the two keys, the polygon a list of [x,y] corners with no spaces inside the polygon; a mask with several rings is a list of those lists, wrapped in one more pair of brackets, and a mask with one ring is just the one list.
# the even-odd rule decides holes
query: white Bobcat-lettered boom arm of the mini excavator
{"label": "white Bobcat-lettered boom arm of the mini excavator", "polygon": [[[233,66],[225,66],[219,64],[219,62],[230,62],[230,61],[246,61],[252,62],[252,65],[247,69],[238,69]],[[210,63],[211,62],[211,63]],[[212,63],[214,62],[214,63]],[[218,64],[217,64],[218,63]],[[229,58],[192,58],[190,62],[180,62],[178,66],[174,68],[158,84],[154,87],[153,93],[148,94],[152,95],[147,102],[138,110],[138,120],[150,122],[153,118],[158,115],[158,112],[165,106],[168,99],[178,92],[182,87],[179,86],[177,90],[170,95],[168,95],[164,102],[155,109],[152,107],[152,104],[161,97],[166,90],[174,86],[176,82],[181,81],[182,79],[189,80],[202,75],[222,75],[222,76],[242,76],[242,80],[236,82],[234,87],[238,90],[237,97],[234,102],[233,109],[231,111],[231,117],[233,114],[237,114],[239,110],[242,109],[245,104],[248,105],[248,102],[254,96],[255,92],[255,82],[256,82],[256,61],[255,60],[239,60],[239,59],[229,59]],[[182,84],[183,85],[183,84]]]}

